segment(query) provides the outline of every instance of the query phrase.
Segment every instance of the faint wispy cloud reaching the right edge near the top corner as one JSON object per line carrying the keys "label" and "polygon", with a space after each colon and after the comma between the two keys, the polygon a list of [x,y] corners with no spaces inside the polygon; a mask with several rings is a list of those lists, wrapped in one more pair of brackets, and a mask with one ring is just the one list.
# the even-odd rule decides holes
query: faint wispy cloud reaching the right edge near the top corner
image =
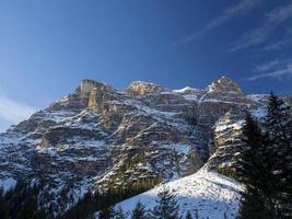
{"label": "faint wispy cloud reaching the right edge near the top corner", "polygon": [[[271,33],[283,22],[292,18],[292,3],[282,5],[267,14],[264,24],[240,38],[230,51],[240,50],[266,42]],[[277,46],[277,45],[276,45]]]}

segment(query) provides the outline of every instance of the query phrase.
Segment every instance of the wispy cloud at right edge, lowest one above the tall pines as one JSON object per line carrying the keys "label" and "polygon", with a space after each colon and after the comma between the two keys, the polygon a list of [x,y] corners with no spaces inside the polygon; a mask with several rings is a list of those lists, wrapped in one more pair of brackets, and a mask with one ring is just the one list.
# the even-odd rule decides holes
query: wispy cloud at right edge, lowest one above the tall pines
{"label": "wispy cloud at right edge, lowest one above the tall pines", "polygon": [[256,81],[262,78],[273,78],[281,80],[284,77],[292,76],[292,60],[273,60],[257,66],[254,70],[255,76],[246,78],[248,81]]}

